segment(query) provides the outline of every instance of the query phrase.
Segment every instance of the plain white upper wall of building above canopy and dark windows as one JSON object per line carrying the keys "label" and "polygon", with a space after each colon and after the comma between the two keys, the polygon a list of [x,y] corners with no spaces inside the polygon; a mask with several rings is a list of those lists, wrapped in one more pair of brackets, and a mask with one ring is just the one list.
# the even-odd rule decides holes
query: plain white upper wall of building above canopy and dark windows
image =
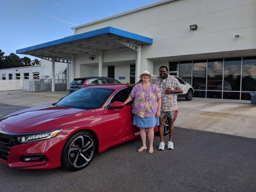
{"label": "plain white upper wall of building above canopy and dark windows", "polygon": [[[142,47],[142,59],[222,51],[225,57],[228,51],[256,49],[255,10],[256,0],[176,0],[75,32],[113,26],[152,37],[153,45]],[[191,24],[197,30],[190,30]]]}

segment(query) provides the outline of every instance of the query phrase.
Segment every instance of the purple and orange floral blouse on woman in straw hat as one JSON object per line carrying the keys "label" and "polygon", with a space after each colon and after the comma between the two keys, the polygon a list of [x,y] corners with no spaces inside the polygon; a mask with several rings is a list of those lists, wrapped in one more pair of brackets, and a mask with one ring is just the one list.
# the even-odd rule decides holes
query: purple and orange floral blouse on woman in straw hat
{"label": "purple and orange floral blouse on woman in straw hat", "polygon": [[130,94],[133,103],[133,113],[141,118],[155,117],[158,110],[158,98],[161,92],[158,85],[149,84],[146,89],[143,83],[136,84]]}

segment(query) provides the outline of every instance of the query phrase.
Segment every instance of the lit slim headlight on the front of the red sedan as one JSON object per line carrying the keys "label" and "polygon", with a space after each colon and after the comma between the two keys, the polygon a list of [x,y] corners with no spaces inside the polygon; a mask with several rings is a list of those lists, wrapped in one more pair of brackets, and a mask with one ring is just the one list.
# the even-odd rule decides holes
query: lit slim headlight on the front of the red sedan
{"label": "lit slim headlight on the front of the red sedan", "polygon": [[28,143],[28,142],[33,142],[33,141],[39,141],[43,139],[49,139],[52,137],[55,137],[59,132],[61,132],[62,129],[54,130],[54,131],[49,131],[49,132],[42,132],[42,133],[37,133],[33,135],[22,135],[18,137],[18,141],[20,143]]}

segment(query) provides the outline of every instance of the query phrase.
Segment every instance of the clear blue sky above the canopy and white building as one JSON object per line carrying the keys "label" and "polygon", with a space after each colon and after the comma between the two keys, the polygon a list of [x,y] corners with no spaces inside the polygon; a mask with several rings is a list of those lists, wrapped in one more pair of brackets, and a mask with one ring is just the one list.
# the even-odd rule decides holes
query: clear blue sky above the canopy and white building
{"label": "clear blue sky above the canopy and white building", "polygon": [[159,1],[0,0],[0,49],[6,56],[20,48],[73,35],[71,27]]}

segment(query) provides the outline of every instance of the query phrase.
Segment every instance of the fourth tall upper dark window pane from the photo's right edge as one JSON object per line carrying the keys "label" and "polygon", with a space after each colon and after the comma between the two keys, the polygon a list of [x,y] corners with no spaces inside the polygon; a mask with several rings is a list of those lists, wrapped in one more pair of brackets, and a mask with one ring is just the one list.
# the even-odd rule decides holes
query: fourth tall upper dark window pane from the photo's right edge
{"label": "fourth tall upper dark window pane from the photo's right edge", "polygon": [[207,60],[194,60],[193,87],[198,90],[206,89]]}

